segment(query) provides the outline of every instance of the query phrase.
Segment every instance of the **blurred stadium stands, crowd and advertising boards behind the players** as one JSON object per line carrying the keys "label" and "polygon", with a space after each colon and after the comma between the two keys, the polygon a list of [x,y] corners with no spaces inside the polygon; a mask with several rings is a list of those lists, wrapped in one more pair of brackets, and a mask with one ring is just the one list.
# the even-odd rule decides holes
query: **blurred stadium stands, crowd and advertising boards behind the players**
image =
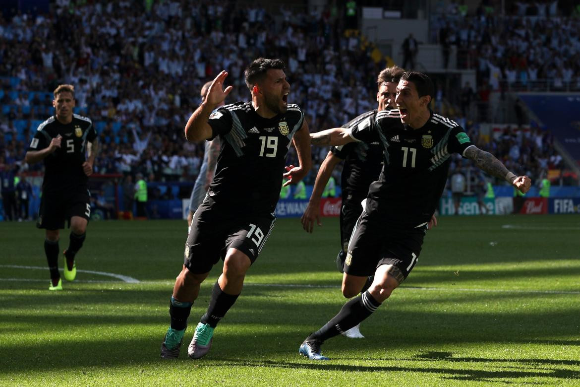
{"label": "blurred stadium stands, crowd and advertising boards behind the players", "polygon": [[[249,99],[242,73],[258,56],[285,60],[289,101],[311,131],[375,108],[382,68],[423,71],[436,83],[433,110],[534,183],[514,198],[505,182],[456,157],[440,215],[455,214],[454,174],[465,180],[459,215],[483,212],[481,198],[488,214],[580,212],[580,6],[572,0],[4,0],[1,10],[2,193],[9,179],[32,185],[28,217],[17,208],[13,220],[35,219],[42,163],[23,159],[61,83],[75,85],[77,113],[92,118],[102,144],[90,179],[95,217],[131,218],[142,173],[148,218],[183,218],[204,147],[182,133],[201,85],[226,69],[234,85],[226,102]],[[307,197],[327,151],[313,147]],[[338,215],[339,197],[340,189],[322,202],[325,215]],[[277,214],[300,216],[305,205],[291,194]],[[0,208],[0,219],[10,218]]]}

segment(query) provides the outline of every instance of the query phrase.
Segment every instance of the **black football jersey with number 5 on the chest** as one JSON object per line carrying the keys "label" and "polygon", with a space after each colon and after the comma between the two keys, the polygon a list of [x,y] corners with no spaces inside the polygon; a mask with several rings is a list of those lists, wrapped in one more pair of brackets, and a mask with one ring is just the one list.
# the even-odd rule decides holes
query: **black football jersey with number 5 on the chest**
{"label": "black football jersey with number 5 on the chest", "polygon": [[96,139],[97,133],[90,118],[73,114],[73,121],[61,124],[56,116],[38,125],[28,151],[45,149],[50,141],[62,136],[60,149],[44,158],[43,191],[67,190],[86,186],[88,176],[82,169],[86,161],[86,143]]}

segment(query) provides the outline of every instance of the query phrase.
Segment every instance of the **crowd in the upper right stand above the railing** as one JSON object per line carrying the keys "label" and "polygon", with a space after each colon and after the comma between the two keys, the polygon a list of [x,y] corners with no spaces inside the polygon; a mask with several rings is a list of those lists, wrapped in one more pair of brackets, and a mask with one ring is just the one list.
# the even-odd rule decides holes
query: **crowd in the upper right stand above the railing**
{"label": "crowd in the upper right stand above the railing", "polygon": [[580,6],[558,0],[507,2],[505,15],[481,2],[470,10],[439,2],[432,14],[431,41],[451,47],[458,68],[474,68],[481,88],[580,90]]}

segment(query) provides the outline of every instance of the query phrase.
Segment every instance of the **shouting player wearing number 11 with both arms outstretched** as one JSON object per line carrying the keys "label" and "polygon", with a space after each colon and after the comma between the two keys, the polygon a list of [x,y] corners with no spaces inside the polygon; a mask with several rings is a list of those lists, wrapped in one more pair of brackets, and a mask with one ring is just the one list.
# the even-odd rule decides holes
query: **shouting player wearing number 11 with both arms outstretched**
{"label": "shouting player wearing number 11 with both arms outstretched", "polygon": [[461,126],[433,113],[428,107],[432,96],[431,79],[410,71],[397,86],[398,110],[381,111],[374,121],[364,120],[350,130],[334,128],[310,135],[312,143],[325,145],[378,141],[386,155],[349,243],[343,295],[358,294],[371,274],[374,281],[300,345],[299,352],[311,360],[328,360],[320,352],[322,343],[371,316],[416,265],[426,226],[445,188],[452,153],[473,160],[522,192],[530,189],[528,176],[507,171],[501,161],[474,146]]}

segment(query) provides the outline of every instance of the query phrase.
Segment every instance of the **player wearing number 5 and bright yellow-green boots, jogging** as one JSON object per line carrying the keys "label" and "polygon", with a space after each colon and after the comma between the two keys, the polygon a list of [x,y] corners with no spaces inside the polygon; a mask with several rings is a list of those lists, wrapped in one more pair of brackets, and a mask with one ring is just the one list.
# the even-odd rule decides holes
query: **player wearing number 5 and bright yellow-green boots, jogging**
{"label": "player wearing number 5 and bright yellow-green boots, jogging", "polygon": [[89,118],[74,114],[74,86],[55,89],[52,106],[56,114],[38,126],[24,160],[28,164],[44,161],[42,200],[37,227],[46,230],[44,250],[50,270],[49,290],[62,290],[59,274],[59,229],[67,220],[71,229],[64,250],[64,278],[77,276],[75,256],[85,241],[90,218],[88,176],[99,149],[97,133]]}

